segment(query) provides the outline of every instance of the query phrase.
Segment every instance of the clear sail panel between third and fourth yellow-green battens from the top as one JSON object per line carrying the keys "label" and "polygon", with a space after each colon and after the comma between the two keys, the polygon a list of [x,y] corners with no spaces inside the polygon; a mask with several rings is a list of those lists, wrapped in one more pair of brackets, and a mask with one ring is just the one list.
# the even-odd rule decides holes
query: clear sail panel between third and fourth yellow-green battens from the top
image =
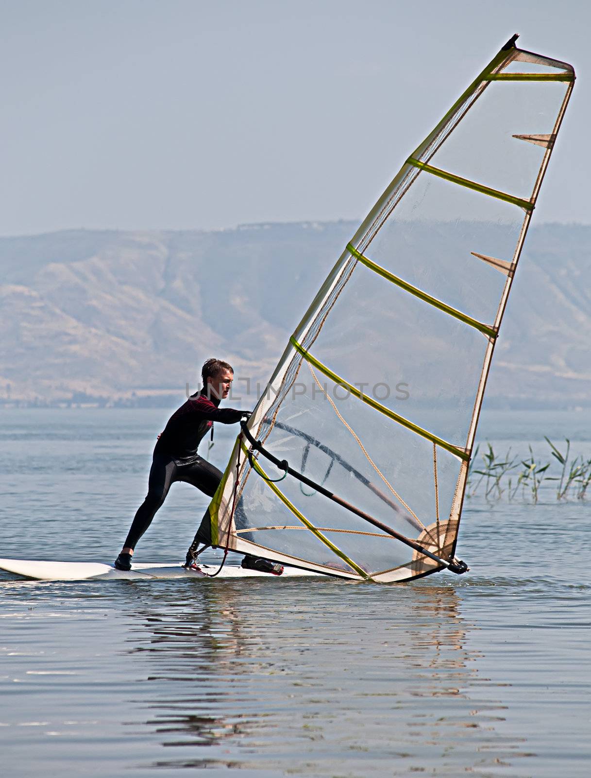
{"label": "clear sail panel between third and fourth yellow-green battens from the top", "polygon": [[481,331],[359,264],[311,353],[419,426],[428,415],[430,432],[464,447],[487,347]]}

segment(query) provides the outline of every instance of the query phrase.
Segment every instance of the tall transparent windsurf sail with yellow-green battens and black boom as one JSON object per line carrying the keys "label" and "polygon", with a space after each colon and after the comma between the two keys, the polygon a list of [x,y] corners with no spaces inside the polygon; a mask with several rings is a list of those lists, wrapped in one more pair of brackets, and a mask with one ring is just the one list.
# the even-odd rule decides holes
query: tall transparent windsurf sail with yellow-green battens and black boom
{"label": "tall transparent windsurf sail with yellow-green battens and black boom", "polygon": [[515,41],[408,156],[297,325],[203,520],[213,545],[353,580],[466,569],[478,414],[575,81]]}

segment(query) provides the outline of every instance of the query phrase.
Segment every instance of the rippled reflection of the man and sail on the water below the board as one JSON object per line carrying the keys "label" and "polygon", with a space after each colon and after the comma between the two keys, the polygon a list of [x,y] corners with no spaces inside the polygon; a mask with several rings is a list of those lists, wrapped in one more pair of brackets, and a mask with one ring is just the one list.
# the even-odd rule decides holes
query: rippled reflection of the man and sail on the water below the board
{"label": "rippled reflection of the man and sail on the water below the board", "polygon": [[152,767],[485,776],[516,755],[452,586],[264,580],[185,594],[154,594],[130,635],[149,668],[143,724],[182,749]]}

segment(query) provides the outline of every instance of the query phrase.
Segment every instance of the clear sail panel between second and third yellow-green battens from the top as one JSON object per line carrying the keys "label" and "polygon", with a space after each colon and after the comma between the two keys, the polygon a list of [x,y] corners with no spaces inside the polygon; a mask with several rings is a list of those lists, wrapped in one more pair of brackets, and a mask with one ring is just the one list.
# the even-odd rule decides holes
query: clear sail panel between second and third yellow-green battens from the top
{"label": "clear sail panel between second and third yellow-green battens from the top", "polygon": [[523,216],[515,205],[423,172],[364,254],[417,289],[493,324],[506,276],[473,252],[512,261]]}

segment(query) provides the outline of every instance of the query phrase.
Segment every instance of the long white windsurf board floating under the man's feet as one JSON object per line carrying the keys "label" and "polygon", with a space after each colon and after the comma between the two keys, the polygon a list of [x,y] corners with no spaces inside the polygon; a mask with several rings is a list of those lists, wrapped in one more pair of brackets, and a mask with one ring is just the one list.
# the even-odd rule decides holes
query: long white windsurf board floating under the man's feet
{"label": "long white windsurf board floating under the man's feet", "polygon": [[[139,562],[130,570],[117,570],[104,562],[44,562],[33,559],[0,559],[0,569],[7,573],[16,573],[25,578],[52,581],[81,580],[149,580],[166,578],[207,578],[217,572],[219,565],[200,565],[200,569],[191,570],[181,566],[180,562]],[[322,576],[296,567],[286,567],[281,576],[259,573],[237,565],[225,564],[217,578],[294,578],[297,576]]]}

